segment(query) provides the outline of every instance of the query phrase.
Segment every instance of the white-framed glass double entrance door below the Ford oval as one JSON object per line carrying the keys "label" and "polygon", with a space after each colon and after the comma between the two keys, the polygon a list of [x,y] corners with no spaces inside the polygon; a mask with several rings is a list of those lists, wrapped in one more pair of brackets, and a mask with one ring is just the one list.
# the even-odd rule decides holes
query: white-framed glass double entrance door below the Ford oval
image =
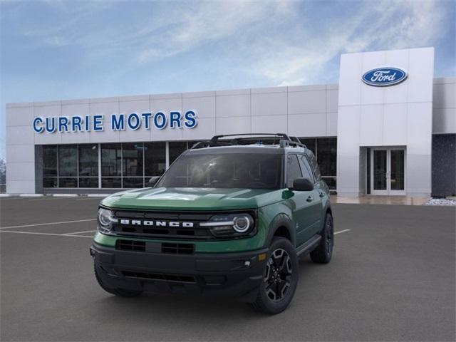
{"label": "white-framed glass double entrance door below the Ford oval", "polygon": [[403,148],[373,148],[370,162],[372,195],[405,195]]}

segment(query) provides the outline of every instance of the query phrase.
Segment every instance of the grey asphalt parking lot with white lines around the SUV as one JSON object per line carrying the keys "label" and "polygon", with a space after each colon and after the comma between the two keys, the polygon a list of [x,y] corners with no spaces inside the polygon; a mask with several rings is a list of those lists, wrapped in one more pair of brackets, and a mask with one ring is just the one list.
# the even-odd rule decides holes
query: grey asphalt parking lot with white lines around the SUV
{"label": "grey asphalt parking lot with white lines around the SUV", "polygon": [[88,253],[99,200],[0,199],[1,341],[455,341],[455,207],[334,204],[331,264],[302,259],[291,306],[264,316],[106,294]]}

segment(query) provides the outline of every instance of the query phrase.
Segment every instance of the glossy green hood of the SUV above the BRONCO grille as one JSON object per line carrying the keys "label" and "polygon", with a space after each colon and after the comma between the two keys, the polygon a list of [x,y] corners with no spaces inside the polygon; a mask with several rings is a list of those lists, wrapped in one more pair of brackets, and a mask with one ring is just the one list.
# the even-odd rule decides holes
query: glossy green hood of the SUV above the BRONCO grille
{"label": "glossy green hood of the SUV above the BRONCO grille", "polygon": [[103,199],[123,209],[227,210],[255,209],[279,202],[283,190],[158,187],[118,192]]}

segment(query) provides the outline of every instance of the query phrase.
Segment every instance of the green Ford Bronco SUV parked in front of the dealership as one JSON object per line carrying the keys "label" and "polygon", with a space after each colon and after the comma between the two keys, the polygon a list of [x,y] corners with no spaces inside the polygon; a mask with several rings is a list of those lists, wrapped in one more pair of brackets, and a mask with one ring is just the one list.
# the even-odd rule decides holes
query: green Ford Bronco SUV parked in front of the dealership
{"label": "green Ford Bronco SUV parked in front of the dealership", "polygon": [[90,254],[105,291],[231,296],[277,314],[296,291],[298,257],[331,260],[314,154],[285,134],[242,136],[198,142],[151,187],[100,202]]}

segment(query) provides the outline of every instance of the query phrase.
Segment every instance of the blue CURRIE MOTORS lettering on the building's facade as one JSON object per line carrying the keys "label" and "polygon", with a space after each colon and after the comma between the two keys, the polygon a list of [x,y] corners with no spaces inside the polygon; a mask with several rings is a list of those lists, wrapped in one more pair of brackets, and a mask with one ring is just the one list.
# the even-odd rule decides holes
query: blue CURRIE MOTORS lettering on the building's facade
{"label": "blue CURRIE MOTORS lettering on the building's facade", "polygon": [[105,115],[72,115],[33,118],[33,130],[36,133],[66,133],[66,132],[102,132],[105,126],[110,130],[163,130],[165,128],[195,128],[197,126],[197,113],[187,110],[185,113],[172,111],[157,113],[130,113]]}

